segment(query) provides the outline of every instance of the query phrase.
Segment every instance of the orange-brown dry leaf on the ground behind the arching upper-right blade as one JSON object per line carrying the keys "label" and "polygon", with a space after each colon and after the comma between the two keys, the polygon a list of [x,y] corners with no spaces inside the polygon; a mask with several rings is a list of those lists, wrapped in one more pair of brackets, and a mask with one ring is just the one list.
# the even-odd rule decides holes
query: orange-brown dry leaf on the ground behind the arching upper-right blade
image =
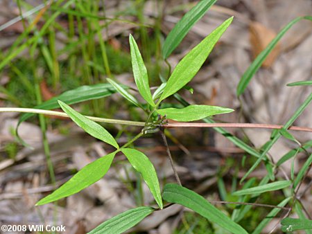
{"label": "orange-brown dry leaf on the ground behind the arching upper-right blade", "polygon": [[[251,21],[249,24],[250,28],[250,44],[252,45],[252,53],[254,58],[268,46],[268,44],[275,38],[276,33],[270,28],[267,28],[263,24],[256,21]],[[264,60],[262,66],[269,68],[275,62],[277,56],[281,52],[280,44],[277,44],[272,52]]]}

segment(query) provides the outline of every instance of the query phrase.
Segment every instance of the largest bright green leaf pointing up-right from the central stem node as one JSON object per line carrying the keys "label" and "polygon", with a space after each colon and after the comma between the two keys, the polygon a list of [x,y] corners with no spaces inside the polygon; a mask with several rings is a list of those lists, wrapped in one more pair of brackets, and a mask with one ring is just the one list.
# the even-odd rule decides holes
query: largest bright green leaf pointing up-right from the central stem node
{"label": "largest bright green leaf pointing up-right from the central stem node", "polygon": [[196,75],[202,64],[207,59],[209,53],[214,48],[218,39],[223,35],[229,24],[231,24],[233,17],[227,19],[205,39],[195,46],[185,57],[177,64],[173,73],[171,74],[159,102],[171,96],[173,93],[182,89]]}

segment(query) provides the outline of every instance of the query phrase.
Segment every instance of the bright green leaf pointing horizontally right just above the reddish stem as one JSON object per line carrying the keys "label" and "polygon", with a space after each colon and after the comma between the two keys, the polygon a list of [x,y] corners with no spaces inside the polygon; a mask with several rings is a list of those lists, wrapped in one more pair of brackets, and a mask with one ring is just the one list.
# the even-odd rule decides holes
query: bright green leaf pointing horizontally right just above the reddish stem
{"label": "bright green leaf pointing horizontally right just above the reddish stem", "polygon": [[162,116],[166,115],[166,118],[182,122],[200,120],[208,116],[214,116],[215,114],[225,114],[232,111],[234,110],[225,107],[215,107],[208,105],[189,105],[188,107],[182,109],[157,109],[158,114],[161,114]]}

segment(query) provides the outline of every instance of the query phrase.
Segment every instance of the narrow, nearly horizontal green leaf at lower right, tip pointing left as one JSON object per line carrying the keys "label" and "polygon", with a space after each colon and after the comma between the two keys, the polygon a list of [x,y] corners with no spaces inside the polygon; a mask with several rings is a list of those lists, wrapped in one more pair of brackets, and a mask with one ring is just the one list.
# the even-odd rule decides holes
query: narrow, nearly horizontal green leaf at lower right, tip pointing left
{"label": "narrow, nearly horizontal green leaf at lower right, tip pointing left", "polygon": [[280,190],[288,186],[291,186],[291,181],[276,181],[272,183],[267,183],[263,186],[256,186],[253,188],[246,188],[243,190],[239,190],[239,191],[233,192],[232,195],[234,196],[253,195],[253,194],[258,194],[258,193],[263,193],[263,192],[268,192],[268,191]]}

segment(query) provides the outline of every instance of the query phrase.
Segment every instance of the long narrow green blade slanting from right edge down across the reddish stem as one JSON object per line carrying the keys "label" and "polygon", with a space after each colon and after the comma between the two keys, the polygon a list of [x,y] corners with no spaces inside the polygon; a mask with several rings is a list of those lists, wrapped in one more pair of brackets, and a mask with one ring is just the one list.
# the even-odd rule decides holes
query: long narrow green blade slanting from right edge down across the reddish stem
{"label": "long narrow green blade slanting from right edge down across the reddish stem", "polygon": [[[291,127],[291,125],[293,124],[293,122],[295,122],[295,120],[300,116],[300,114],[302,114],[302,112],[304,111],[304,109],[306,109],[306,107],[309,105],[309,103],[312,100],[312,93],[308,96],[308,98],[306,98],[306,100],[304,100],[304,102],[302,103],[302,105],[295,111],[295,114],[293,114],[293,116],[291,116],[291,118],[287,121],[287,123],[284,125],[284,129],[288,129],[288,127]],[[277,140],[279,139],[279,137],[281,136],[281,134],[279,132],[277,132],[277,134],[275,135],[274,138],[272,138],[272,140],[270,140],[268,142],[268,145],[266,145],[265,149],[263,149],[263,152],[261,154],[261,156],[257,159],[257,161],[252,165],[252,167],[250,168],[250,170],[248,170],[248,172],[243,176],[243,178],[241,179],[241,182],[244,181],[248,175],[257,168],[257,166],[259,165],[259,163],[261,163],[261,161],[263,159],[266,158],[266,154],[268,153],[268,151],[270,150],[270,148],[277,142]]]}

